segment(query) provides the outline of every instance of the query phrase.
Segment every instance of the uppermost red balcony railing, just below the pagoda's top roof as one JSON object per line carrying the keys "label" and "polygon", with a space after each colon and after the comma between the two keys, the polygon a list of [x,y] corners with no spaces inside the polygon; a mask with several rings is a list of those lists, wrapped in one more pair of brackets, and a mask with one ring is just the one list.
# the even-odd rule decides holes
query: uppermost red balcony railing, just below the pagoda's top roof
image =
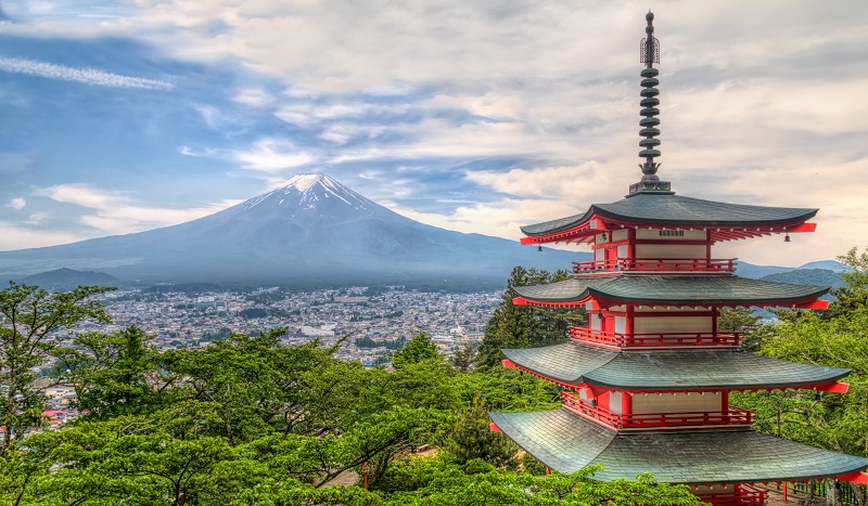
{"label": "uppermost red balcony railing, just below the pagoda's top roof", "polygon": [[731,274],[736,271],[736,259],[705,258],[617,258],[612,260],[595,260],[590,262],[573,262],[574,274],[592,274],[602,272],[653,272],[668,274]]}

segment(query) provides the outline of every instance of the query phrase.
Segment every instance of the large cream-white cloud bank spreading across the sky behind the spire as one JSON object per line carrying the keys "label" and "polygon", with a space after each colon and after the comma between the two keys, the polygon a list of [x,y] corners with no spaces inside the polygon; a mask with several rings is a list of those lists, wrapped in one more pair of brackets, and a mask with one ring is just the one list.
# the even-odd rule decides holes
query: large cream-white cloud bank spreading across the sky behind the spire
{"label": "large cream-white cloud bank spreading across the sky behind the spire", "polygon": [[[468,181],[514,197],[413,215],[506,236],[514,236],[514,223],[617,199],[640,176],[636,49],[644,21],[633,3],[137,4],[137,16],[105,22],[89,35],[132,34],[174,56],[243,62],[282,79],[282,93],[242,88],[234,101],[324,141],[299,148],[275,133],[247,150],[203,146],[182,148],[186,154],[232,159],[268,178],[320,161],[412,160],[416,169],[400,178],[406,197],[422,187],[414,177],[430,177],[431,158],[456,166],[486,157],[528,160],[467,172]],[[831,258],[853,237],[868,236],[863,3],[733,0],[654,9],[662,43],[661,177],[681,195],[821,207],[818,232],[794,238],[809,247],[790,248],[793,261]],[[404,113],[416,120],[397,119]],[[352,141],[360,139],[369,142],[356,147]],[[741,255],[775,259],[778,246],[755,242]]]}

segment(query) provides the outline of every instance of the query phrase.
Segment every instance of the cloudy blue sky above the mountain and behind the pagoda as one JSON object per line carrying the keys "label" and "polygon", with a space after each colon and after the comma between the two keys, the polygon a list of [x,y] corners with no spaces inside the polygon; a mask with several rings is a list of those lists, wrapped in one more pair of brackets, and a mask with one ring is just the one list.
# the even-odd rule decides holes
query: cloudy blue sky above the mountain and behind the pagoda
{"label": "cloudy blue sky above the mountain and behind the pagoda", "polygon": [[820,208],[813,234],[715,257],[868,245],[864,0],[0,0],[0,250],[190,221],[307,172],[518,239],[641,177],[649,9],[659,176]]}

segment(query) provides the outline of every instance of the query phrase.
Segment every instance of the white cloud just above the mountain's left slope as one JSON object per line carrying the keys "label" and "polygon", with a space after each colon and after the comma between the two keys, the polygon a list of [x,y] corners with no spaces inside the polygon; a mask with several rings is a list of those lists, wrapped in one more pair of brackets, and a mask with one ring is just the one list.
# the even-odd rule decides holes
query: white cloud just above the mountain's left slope
{"label": "white cloud just above the mountain's left slope", "polygon": [[128,234],[183,223],[240,203],[224,200],[204,207],[182,209],[150,207],[139,205],[127,193],[80,183],[49,186],[40,189],[36,194],[91,209],[93,213],[81,217],[81,223],[104,234]]}

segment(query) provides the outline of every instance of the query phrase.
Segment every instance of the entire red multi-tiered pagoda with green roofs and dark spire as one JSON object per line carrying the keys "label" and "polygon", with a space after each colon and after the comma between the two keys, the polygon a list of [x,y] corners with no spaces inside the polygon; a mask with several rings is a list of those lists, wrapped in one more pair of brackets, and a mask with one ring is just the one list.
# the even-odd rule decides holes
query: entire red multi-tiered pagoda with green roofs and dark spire
{"label": "entire red multi-tiered pagoda with green roofs and dark spire", "polygon": [[653,14],[641,42],[641,180],[626,198],[579,215],[522,228],[522,244],[588,244],[593,261],[575,276],[516,287],[513,303],[585,308],[589,324],[572,342],[502,350],[503,365],[562,388],[560,410],[490,413],[493,429],[550,469],[598,464],[598,480],[690,484],[703,501],[758,505],[753,483],[838,478],[868,483],[868,459],[753,431],[751,413],[729,405],[732,391],[812,389],[844,393],[850,371],[797,364],[740,349],[718,330],[722,308],[826,309],[826,287],[735,275],[718,242],[813,232],[817,209],[744,206],[676,195],[656,176],[659,42]]}

